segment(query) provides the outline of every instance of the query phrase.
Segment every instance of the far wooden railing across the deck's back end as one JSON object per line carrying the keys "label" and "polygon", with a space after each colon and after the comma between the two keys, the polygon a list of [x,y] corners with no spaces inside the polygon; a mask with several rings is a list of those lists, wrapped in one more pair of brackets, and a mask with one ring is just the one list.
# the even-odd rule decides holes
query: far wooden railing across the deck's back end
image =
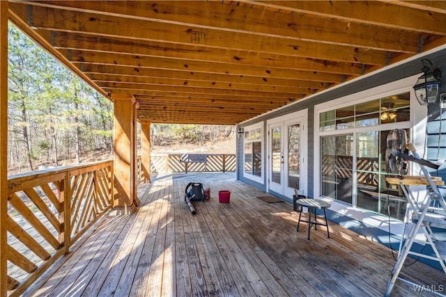
{"label": "far wooden railing across the deck's back end", "polygon": [[[185,163],[180,154],[152,154],[151,172],[235,172],[236,154],[207,154],[206,163]],[[138,180],[143,179],[141,157],[138,157]]]}

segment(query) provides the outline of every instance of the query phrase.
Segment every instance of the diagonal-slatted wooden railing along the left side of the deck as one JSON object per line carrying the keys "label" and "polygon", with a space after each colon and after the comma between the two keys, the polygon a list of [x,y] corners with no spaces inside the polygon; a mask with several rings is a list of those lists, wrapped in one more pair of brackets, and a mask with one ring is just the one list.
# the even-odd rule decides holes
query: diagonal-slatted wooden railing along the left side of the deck
{"label": "diagonal-slatted wooden railing along the left side of the deck", "polygon": [[112,207],[112,193],[113,161],[8,177],[9,296],[68,253]]}

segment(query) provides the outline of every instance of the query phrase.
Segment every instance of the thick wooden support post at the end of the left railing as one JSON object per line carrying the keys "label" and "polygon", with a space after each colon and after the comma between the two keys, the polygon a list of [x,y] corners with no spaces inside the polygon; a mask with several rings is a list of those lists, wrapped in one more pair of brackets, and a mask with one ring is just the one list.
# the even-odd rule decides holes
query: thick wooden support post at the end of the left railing
{"label": "thick wooden support post at the end of the left railing", "polygon": [[137,202],[136,100],[112,95],[114,102],[114,207],[134,211]]}

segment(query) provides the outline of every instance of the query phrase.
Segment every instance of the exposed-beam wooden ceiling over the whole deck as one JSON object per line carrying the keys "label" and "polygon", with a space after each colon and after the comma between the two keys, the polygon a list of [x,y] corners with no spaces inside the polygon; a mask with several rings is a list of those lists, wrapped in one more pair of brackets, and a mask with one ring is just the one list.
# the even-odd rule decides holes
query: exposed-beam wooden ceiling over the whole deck
{"label": "exposed-beam wooden ceiling over the whole deck", "polygon": [[10,20],[157,123],[234,125],[446,43],[446,1],[10,1]]}

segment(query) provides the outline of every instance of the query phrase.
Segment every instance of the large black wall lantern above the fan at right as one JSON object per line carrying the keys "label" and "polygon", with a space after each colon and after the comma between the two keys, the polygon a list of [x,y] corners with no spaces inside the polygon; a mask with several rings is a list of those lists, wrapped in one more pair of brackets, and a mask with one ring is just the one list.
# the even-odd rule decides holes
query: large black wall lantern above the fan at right
{"label": "large black wall lantern above the fan at right", "polygon": [[424,74],[418,78],[413,86],[415,97],[421,105],[432,104],[437,101],[438,90],[441,83],[441,72],[438,68],[433,68],[433,64],[428,59],[422,59]]}

